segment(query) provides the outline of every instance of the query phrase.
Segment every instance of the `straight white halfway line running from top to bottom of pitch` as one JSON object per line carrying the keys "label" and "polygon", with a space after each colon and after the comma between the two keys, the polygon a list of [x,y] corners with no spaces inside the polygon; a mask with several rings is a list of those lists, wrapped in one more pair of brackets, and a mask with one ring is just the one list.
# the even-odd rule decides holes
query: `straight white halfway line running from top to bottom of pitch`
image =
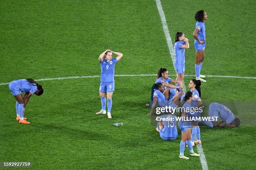
{"label": "straight white halfway line running from top to bottom of pitch", "polygon": [[[168,47],[169,47],[169,52],[172,56],[172,63],[174,65],[174,61],[175,61],[174,48],[173,48],[173,45],[172,45],[172,39],[171,39],[171,36],[169,34],[169,30],[168,30],[168,27],[167,27],[164,11],[163,11],[163,8],[161,6],[161,1],[156,0],[156,5],[157,5],[157,9],[159,11],[159,15],[161,17],[161,21],[162,21],[162,25],[163,25],[163,29],[164,29],[164,34],[165,34],[166,41],[167,41],[167,44],[168,44]],[[184,87],[184,90],[185,90],[185,86],[183,86],[183,87]],[[203,152],[202,145],[197,145],[197,151],[200,154],[200,161],[201,161],[202,169],[203,170],[208,170],[208,165],[207,165],[207,162],[206,162],[206,159],[205,159],[205,154]]]}

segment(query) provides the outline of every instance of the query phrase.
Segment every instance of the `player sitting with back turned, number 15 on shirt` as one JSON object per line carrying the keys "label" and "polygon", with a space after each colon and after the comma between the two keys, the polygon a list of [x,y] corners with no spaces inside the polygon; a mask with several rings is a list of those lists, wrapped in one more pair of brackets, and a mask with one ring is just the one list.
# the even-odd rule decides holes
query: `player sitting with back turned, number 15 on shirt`
{"label": "player sitting with back turned, number 15 on shirt", "polygon": [[160,137],[163,140],[175,140],[178,136],[176,127],[175,115],[161,115],[156,117],[157,128],[156,131],[160,133]]}

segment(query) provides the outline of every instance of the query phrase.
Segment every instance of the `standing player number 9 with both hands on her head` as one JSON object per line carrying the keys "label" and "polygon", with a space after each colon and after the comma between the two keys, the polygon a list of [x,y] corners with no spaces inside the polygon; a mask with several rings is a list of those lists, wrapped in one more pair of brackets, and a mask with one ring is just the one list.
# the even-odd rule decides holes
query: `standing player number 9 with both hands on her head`
{"label": "standing player number 9 with both hands on her head", "polygon": [[[117,57],[112,58],[113,54]],[[105,50],[100,54],[99,62],[101,67],[100,76],[100,99],[102,109],[97,112],[97,115],[106,114],[106,93],[108,98],[108,118],[111,119],[111,107],[112,107],[112,95],[115,90],[115,64],[123,57],[120,52],[113,52],[111,50]]]}

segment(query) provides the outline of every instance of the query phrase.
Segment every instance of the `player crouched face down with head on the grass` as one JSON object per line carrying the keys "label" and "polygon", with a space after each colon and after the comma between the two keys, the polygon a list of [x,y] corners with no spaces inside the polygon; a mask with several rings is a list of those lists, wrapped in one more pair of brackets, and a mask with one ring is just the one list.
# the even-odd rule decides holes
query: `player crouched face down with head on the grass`
{"label": "player crouched face down with head on the grass", "polygon": [[[240,125],[240,120],[234,116],[231,110],[217,102],[212,102],[209,105],[209,116],[219,117],[222,119],[220,127],[236,127]],[[213,128],[218,126],[218,121],[202,121],[205,125]]]}

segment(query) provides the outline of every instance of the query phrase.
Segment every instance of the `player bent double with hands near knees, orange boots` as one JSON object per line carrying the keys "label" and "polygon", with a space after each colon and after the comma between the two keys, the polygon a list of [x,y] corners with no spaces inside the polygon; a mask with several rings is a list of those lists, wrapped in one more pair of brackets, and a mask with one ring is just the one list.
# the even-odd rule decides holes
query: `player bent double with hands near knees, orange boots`
{"label": "player bent double with hands near knees, orange boots", "polygon": [[[28,104],[28,100],[33,94],[40,96],[44,93],[42,85],[38,85],[35,80],[28,78],[11,81],[9,83],[9,88],[12,95],[17,100],[16,120],[19,120],[19,123],[29,124],[30,122],[26,121],[27,118],[23,117],[25,108]],[[24,96],[22,96],[21,92],[25,92]]]}

